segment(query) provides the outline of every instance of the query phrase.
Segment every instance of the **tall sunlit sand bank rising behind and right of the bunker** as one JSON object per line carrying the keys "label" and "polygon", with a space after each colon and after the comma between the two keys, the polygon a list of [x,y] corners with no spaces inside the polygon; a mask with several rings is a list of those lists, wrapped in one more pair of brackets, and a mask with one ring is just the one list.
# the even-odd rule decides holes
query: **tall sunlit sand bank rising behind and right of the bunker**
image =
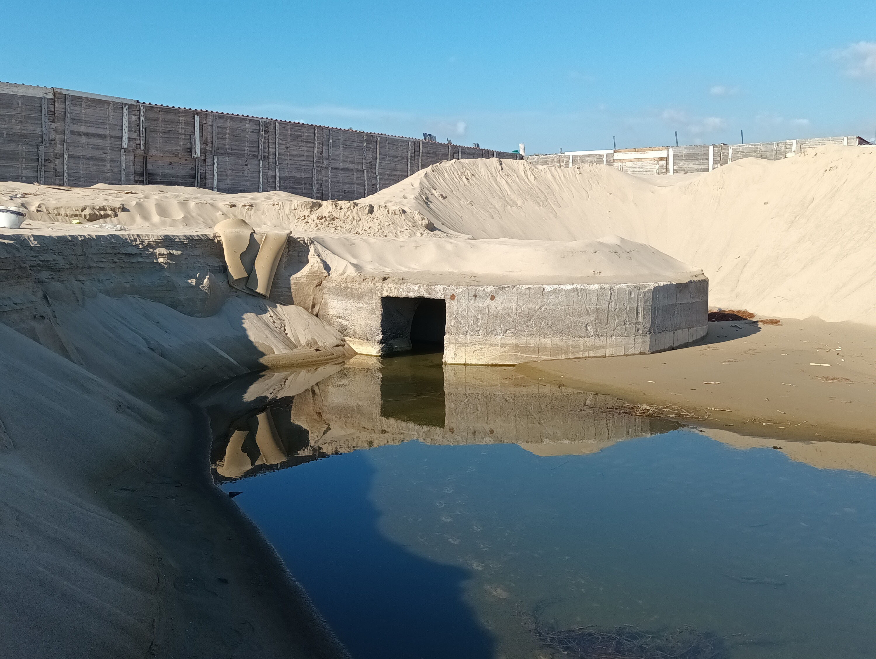
{"label": "tall sunlit sand bank rising behind and right of the bunker", "polygon": [[616,234],[703,268],[714,306],[876,324],[874,178],[876,149],[842,146],[743,159],[670,186],[599,165],[456,160],[363,202],[475,238]]}

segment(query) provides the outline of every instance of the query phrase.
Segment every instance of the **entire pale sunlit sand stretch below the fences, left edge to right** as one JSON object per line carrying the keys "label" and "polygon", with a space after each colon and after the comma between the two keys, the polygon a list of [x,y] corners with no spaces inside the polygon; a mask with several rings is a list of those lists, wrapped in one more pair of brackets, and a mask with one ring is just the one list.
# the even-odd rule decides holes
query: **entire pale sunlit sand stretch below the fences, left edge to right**
{"label": "entire pale sunlit sand stretch below the fences, left edge to right", "polygon": [[[296,235],[562,243],[619,236],[702,268],[713,306],[876,324],[874,177],[876,149],[825,146],[672,181],[599,165],[539,169],[524,161],[453,160],[359,202],[282,192],[4,183],[0,204],[26,209],[27,230],[65,232],[112,231],[92,227],[116,224],[205,231],[241,217],[256,230]],[[382,255],[374,251],[373,260]]]}

